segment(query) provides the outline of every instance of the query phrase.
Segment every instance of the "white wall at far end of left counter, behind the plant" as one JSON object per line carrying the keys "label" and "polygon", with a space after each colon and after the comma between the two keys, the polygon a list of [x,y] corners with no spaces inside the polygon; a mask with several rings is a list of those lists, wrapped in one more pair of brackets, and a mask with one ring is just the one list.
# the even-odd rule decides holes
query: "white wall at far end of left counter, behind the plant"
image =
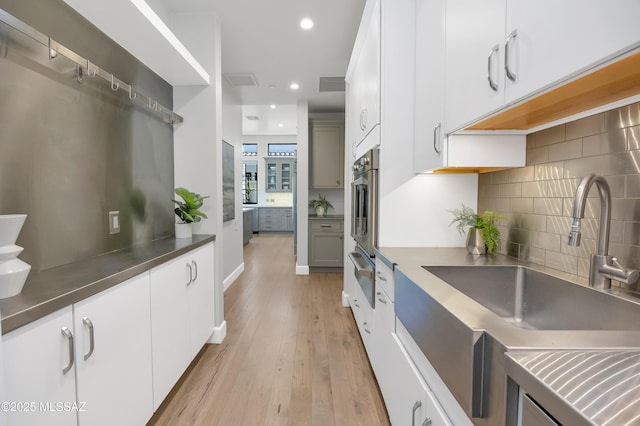
{"label": "white wall at far end of left counter, behind the plant", "polygon": [[174,14],[168,25],[211,76],[209,86],[174,88],[174,110],[184,117],[174,129],[174,172],[176,186],[211,196],[202,208],[209,219],[195,224],[194,232],[216,235],[215,326],[224,330],[220,24],[213,15],[199,13]]}

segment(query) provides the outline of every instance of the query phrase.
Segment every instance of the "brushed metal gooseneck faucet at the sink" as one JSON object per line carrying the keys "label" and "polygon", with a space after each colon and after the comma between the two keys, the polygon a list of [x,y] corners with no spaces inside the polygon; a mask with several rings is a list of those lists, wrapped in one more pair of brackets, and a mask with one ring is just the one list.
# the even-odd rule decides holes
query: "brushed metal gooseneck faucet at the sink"
{"label": "brushed metal gooseneck faucet at the sink", "polygon": [[585,176],[576,189],[573,201],[573,223],[569,232],[569,245],[579,246],[580,219],[584,218],[584,208],[587,204],[587,194],[591,185],[596,184],[600,194],[600,233],[598,234],[598,253],[591,255],[591,269],[589,271],[589,285],[591,287],[611,288],[611,280],[625,284],[634,284],[640,278],[640,271],[627,269],[620,265],[618,259],[609,256],[609,230],[611,228],[611,189],[602,176],[590,174]]}

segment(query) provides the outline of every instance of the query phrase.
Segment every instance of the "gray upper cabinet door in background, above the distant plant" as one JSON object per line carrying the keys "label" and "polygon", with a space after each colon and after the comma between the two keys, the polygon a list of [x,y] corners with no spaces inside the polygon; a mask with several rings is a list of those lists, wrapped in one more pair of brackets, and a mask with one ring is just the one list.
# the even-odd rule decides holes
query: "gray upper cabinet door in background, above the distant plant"
{"label": "gray upper cabinet door in background, above the distant plant", "polygon": [[344,127],[341,124],[314,125],[311,130],[312,188],[344,187]]}

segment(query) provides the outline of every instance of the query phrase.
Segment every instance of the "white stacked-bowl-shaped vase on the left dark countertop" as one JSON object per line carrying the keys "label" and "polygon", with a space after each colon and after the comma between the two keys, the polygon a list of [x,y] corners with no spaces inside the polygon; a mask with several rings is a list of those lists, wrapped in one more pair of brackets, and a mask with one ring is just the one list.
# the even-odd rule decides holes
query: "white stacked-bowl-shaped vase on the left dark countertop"
{"label": "white stacked-bowl-shaped vase on the left dark countertop", "polygon": [[0,215],[0,299],[20,293],[31,270],[18,259],[23,248],[15,244],[26,218],[26,214]]}

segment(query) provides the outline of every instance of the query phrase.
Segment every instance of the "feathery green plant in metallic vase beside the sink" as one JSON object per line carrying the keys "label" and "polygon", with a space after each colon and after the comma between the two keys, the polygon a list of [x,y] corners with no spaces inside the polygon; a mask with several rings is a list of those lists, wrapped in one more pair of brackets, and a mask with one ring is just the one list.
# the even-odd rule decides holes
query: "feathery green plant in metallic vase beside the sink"
{"label": "feathery green plant in metallic vase beside the sink", "polygon": [[460,234],[467,233],[467,251],[471,254],[495,254],[500,249],[500,230],[495,222],[506,219],[505,216],[493,210],[485,210],[482,214],[476,214],[471,207],[462,205],[462,208],[449,210],[453,214],[453,220],[449,226],[456,224]]}

